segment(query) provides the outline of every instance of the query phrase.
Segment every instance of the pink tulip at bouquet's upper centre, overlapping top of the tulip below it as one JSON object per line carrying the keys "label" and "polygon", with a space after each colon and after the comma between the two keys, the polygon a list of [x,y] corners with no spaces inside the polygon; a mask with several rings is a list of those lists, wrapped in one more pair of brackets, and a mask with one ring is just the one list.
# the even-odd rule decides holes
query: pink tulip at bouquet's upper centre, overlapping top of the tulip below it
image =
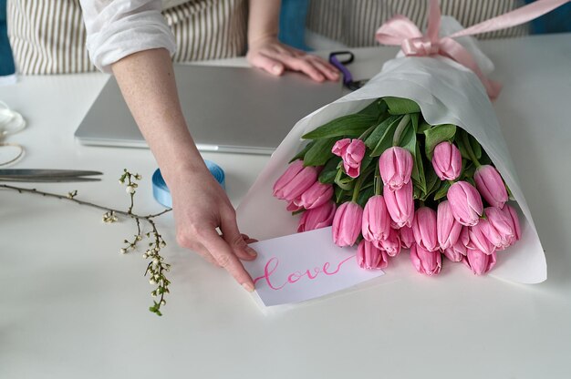
{"label": "pink tulip at bouquet's upper centre, overlapping top of the tulip below it", "polygon": [[400,189],[410,181],[412,154],[407,149],[393,147],[386,149],[379,158],[380,177],[390,190]]}

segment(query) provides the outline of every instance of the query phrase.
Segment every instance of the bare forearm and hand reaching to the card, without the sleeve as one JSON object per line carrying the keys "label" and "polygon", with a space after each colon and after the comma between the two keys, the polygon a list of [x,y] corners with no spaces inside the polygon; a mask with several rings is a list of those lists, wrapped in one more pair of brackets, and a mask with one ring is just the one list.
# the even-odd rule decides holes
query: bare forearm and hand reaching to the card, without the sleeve
{"label": "bare forearm and hand reaching to the card, without the sleeve", "polygon": [[253,260],[255,252],[244,241],[234,207],[194,145],[182,116],[169,52],[141,51],[111,69],[171,189],[178,243],[222,266],[246,290],[254,291],[239,259]]}

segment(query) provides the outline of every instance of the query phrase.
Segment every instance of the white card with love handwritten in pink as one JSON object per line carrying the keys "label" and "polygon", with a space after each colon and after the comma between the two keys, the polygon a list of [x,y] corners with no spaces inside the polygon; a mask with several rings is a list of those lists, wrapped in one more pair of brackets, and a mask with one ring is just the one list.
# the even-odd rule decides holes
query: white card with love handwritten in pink
{"label": "white card with love handwritten in pink", "polygon": [[384,273],[359,268],[357,246],[335,245],[331,228],[255,242],[250,246],[258,252],[258,257],[243,263],[265,306],[315,299]]}

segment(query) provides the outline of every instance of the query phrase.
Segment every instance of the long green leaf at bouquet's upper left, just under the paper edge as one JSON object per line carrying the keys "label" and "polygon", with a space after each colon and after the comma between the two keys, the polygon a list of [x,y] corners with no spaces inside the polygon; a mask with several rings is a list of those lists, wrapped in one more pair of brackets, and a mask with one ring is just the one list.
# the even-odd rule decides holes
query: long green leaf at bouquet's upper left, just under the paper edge
{"label": "long green leaf at bouquet's upper left, just under the paper edge", "polygon": [[342,136],[345,136],[345,138],[358,138],[365,130],[374,125],[378,119],[378,116],[367,114],[342,116],[306,133],[302,138],[321,139]]}

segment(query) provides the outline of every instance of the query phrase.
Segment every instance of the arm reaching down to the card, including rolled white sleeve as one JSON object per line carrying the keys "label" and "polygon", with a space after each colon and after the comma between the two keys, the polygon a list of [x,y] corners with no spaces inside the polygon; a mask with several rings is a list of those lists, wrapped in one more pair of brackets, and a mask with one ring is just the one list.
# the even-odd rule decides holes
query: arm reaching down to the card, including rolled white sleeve
{"label": "arm reaching down to the card, including rolled white sleeve", "polygon": [[80,2],[89,56],[117,77],[171,189],[177,241],[253,291],[254,282],[239,259],[252,260],[255,251],[238,231],[234,207],[204,165],[182,116],[171,64],[174,38],[161,15],[161,1]]}

